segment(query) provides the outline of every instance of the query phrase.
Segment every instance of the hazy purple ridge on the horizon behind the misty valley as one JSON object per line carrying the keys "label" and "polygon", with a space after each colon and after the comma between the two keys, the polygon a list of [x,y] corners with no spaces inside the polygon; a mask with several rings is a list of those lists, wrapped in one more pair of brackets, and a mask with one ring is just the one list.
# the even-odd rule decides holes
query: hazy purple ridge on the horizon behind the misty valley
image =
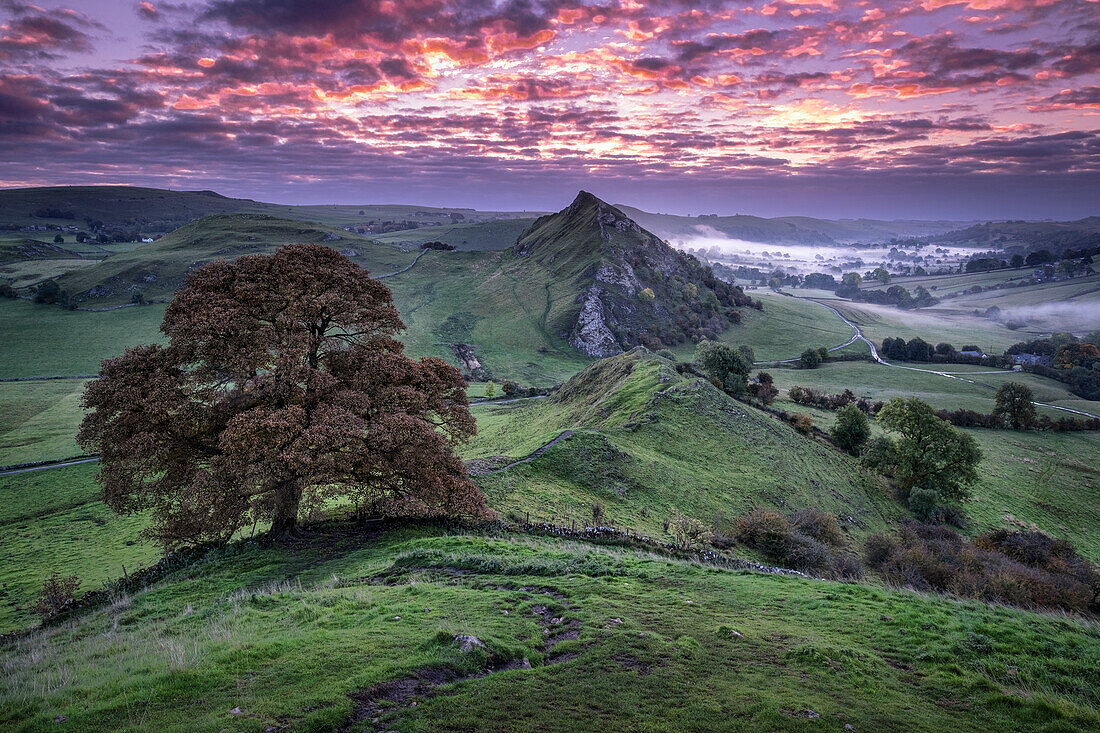
{"label": "hazy purple ridge on the horizon behind the misty valley", "polygon": [[681,217],[650,214],[629,206],[619,207],[630,218],[659,237],[688,241],[713,232],[730,239],[768,244],[845,244],[884,242],[895,238],[928,237],[967,227],[967,221],[882,221],[877,219],[814,219],[778,217],[766,219],[746,215],[729,217]]}

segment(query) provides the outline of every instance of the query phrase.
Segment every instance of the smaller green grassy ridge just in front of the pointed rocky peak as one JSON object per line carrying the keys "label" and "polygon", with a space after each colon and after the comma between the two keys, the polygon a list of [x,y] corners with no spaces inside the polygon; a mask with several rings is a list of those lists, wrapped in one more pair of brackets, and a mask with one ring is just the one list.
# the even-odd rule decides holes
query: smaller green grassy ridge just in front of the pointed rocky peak
{"label": "smaller green grassy ridge just in front of the pointed rocky peak", "polygon": [[815,507],[862,535],[903,514],[857,461],[645,350],[596,362],[550,398],[475,414],[479,435],[464,456],[488,459],[475,471],[575,431],[529,462],[476,479],[495,510],[530,512],[532,521],[584,526],[600,503],[604,522],[666,536],[673,507],[708,525],[755,506]]}

